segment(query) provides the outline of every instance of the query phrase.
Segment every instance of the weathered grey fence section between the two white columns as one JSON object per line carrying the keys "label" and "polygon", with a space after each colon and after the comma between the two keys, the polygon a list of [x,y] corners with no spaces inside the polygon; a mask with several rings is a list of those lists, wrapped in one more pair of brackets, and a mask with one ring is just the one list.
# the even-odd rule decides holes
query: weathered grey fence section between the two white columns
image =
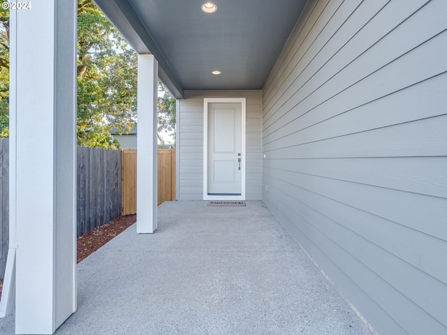
{"label": "weathered grey fence section between the two white columns", "polygon": [[121,215],[121,151],[78,147],[78,237]]}

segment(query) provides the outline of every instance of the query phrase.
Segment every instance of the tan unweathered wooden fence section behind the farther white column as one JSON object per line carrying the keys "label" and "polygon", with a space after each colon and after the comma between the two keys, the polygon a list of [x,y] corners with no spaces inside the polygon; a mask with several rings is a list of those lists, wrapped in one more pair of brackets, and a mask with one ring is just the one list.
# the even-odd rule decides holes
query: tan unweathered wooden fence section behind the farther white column
{"label": "tan unweathered wooden fence section behind the farther white column", "polygon": [[[175,200],[175,149],[159,149],[157,154],[157,204]],[[122,150],[122,215],[137,211],[137,151]]]}

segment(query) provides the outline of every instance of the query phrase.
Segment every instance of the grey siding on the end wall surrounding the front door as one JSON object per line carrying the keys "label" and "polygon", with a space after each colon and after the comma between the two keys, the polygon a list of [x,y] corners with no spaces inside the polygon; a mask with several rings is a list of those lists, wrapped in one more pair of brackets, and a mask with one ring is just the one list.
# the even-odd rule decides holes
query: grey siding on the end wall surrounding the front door
{"label": "grey siding on the end wall surrounding the front door", "polygon": [[179,200],[203,200],[203,99],[247,98],[247,200],[261,199],[262,91],[185,91],[177,111]]}

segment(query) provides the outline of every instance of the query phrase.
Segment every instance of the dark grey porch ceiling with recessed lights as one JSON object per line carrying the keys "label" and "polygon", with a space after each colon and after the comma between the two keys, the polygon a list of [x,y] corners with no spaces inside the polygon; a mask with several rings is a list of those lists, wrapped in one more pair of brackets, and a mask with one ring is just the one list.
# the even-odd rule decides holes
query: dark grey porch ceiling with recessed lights
{"label": "dark grey porch ceiling with recessed lights", "polygon": [[[139,54],[184,90],[262,89],[307,0],[95,0]],[[212,71],[219,70],[220,75]]]}

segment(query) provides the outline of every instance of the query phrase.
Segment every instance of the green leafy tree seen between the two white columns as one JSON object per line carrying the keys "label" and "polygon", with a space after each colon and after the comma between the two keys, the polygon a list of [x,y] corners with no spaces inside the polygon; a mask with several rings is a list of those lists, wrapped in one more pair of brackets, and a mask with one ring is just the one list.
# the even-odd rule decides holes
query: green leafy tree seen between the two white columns
{"label": "green leafy tree seen between the two white columns", "polygon": [[78,1],[78,144],[118,149],[136,124],[137,57],[91,0]]}

